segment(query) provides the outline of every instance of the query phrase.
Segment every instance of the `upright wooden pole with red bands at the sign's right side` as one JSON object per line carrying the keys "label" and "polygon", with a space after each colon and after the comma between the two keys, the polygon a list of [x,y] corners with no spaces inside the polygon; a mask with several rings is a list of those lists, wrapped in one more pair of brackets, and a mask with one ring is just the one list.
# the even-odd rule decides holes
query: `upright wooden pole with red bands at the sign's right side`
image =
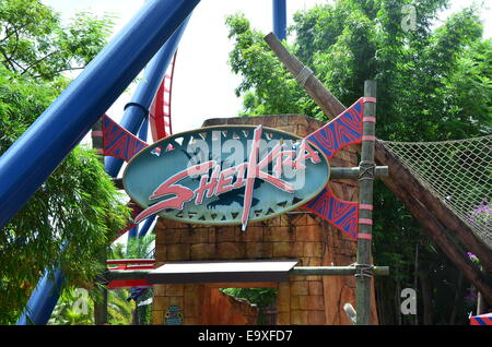
{"label": "upright wooden pole with red bands at the sign's right side", "polygon": [[[356,278],[356,311],[358,325],[371,323],[371,279],[372,279],[372,251],[371,239],[373,235],[373,183],[374,183],[374,142],[376,140],[376,82],[365,81],[364,118],[362,123],[361,174],[359,176],[359,238],[358,238],[358,266],[361,273]],[[371,270],[371,272],[370,272]]]}

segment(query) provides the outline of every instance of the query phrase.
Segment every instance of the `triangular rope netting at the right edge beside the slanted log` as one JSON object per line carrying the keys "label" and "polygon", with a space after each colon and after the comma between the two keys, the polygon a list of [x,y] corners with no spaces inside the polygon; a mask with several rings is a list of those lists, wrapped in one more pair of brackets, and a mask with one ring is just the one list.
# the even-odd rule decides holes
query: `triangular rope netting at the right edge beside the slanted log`
{"label": "triangular rope netting at the right edge beside the slanted log", "polygon": [[492,135],[442,142],[382,142],[492,248]]}

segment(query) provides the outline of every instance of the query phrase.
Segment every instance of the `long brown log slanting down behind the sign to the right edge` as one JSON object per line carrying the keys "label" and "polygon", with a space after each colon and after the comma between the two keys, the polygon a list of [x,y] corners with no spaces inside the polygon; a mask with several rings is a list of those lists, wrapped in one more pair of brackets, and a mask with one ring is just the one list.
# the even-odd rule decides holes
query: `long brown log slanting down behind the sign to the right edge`
{"label": "long brown log slanting down behind the sign to the right edge", "polygon": [[[302,70],[302,63],[291,53],[286,51],[286,49],[282,46],[279,39],[269,34],[266,38],[266,41],[277,55],[279,60],[285,65],[285,68],[296,75],[296,71]],[[301,68],[300,68],[301,64]],[[298,72],[297,72],[298,73]],[[313,80],[314,76],[311,76],[309,80]],[[316,104],[324,110],[324,112],[332,119],[338,116],[338,113],[333,113],[332,109],[343,108],[342,104],[338,101],[336,98],[330,98],[331,93],[325,88],[325,86],[319,84],[304,83],[303,87],[306,92],[312,95],[313,93],[320,94],[320,97],[313,99]],[[326,104],[326,105],[325,105]],[[338,104],[338,105],[337,105]],[[487,289],[490,295],[487,297],[492,297],[492,285],[490,285],[487,280],[483,280],[483,274],[480,272],[477,266],[473,268],[473,264],[468,264],[461,258],[455,258],[449,254],[457,254],[458,248],[450,238],[444,238],[443,232],[445,232],[443,226],[445,226],[449,231],[452,231],[460,242],[473,254],[476,254],[483,264],[485,271],[492,270],[492,251],[483,244],[471,231],[471,229],[465,225],[462,222],[458,220],[453,212],[446,208],[438,199],[436,199],[432,193],[429,192],[422,184],[420,184],[421,189],[414,189],[412,192],[408,192],[403,184],[400,182],[407,182],[414,180],[413,176],[410,172],[405,172],[401,164],[391,163],[388,158],[393,157],[393,155],[386,149],[386,147],[382,143],[376,143],[375,146],[375,159],[378,165],[384,165],[389,167],[389,175],[393,179],[386,178],[383,179],[385,184],[403,202],[407,208],[412,213],[412,215],[419,219],[422,226],[425,227],[427,232],[434,242],[449,256],[449,260],[455,263],[455,265],[461,271],[464,271],[464,275],[467,276],[467,279],[470,280],[477,287],[481,286],[484,290]],[[398,175],[395,175],[395,171],[399,171]],[[393,182],[394,184],[389,184]],[[396,184],[395,182],[398,182]],[[418,187],[418,186],[415,186]],[[425,206],[421,206],[421,202],[419,199],[412,195],[419,194],[420,198],[425,201]],[[402,199],[405,198],[405,199]],[[422,219],[419,215],[429,215],[432,218]],[[437,219],[436,219],[437,218]],[[470,262],[471,263],[471,262]],[[466,267],[466,268],[465,268]],[[481,278],[481,279],[480,279]],[[480,284],[478,284],[480,282]],[[483,291],[482,291],[483,294]],[[488,299],[489,301],[489,299]],[[490,302],[490,301],[489,301]],[[492,303],[492,302],[491,302]]]}

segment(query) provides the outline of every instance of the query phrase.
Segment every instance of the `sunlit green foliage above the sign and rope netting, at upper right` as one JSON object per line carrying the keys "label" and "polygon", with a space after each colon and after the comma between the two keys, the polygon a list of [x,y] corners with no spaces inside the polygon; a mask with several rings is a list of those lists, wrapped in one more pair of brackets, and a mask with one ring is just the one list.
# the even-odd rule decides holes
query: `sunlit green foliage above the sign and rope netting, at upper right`
{"label": "sunlit green foliage above the sign and rope netting, at upper right", "polygon": [[[378,83],[378,136],[425,141],[491,131],[491,40],[481,40],[477,9],[466,9],[436,29],[447,1],[420,1],[414,31],[401,26],[409,1],[335,1],[294,15],[290,50],[345,106]],[[230,64],[243,76],[243,115],[300,112],[327,120],[297,86],[242,14],[227,17],[234,49]],[[459,82],[459,83],[457,83]],[[475,103],[470,95],[479,96]],[[472,101],[473,100],[473,101]],[[398,136],[398,137],[397,137]]]}

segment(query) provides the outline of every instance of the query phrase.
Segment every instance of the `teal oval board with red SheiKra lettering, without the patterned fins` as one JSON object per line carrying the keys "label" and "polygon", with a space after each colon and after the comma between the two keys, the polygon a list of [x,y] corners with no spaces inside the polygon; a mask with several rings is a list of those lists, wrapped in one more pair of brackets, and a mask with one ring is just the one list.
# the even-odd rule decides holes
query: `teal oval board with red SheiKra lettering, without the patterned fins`
{"label": "teal oval board with red SheiKra lettering, without the patterned fins", "polygon": [[278,216],[316,196],[329,164],[307,140],[261,125],[209,127],[165,137],[124,172],[130,198],[151,215],[206,225]]}

